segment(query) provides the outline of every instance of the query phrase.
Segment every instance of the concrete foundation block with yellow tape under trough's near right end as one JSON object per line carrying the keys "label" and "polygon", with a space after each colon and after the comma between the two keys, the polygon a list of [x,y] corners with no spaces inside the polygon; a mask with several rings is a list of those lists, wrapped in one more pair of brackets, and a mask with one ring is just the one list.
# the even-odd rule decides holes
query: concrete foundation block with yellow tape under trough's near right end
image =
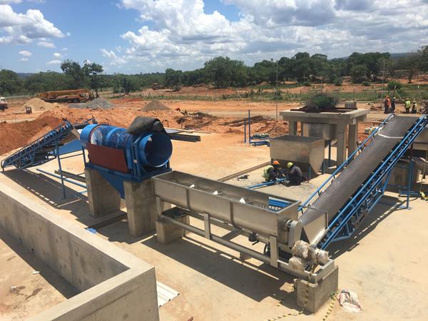
{"label": "concrete foundation block with yellow tape under trough's near right end", "polygon": [[322,280],[315,284],[309,283],[309,285],[307,285],[307,280],[298,278],[294,282],[295,292],[297,295],[297,306],[303,307],[305,305],[306,289],[308,287],[308,297],[305,311],[315,313],[331,297],[332,292],[337,290],[338,286],[338,266],[335,266],[332,272],[327,274],[325,277],[322,277]]}

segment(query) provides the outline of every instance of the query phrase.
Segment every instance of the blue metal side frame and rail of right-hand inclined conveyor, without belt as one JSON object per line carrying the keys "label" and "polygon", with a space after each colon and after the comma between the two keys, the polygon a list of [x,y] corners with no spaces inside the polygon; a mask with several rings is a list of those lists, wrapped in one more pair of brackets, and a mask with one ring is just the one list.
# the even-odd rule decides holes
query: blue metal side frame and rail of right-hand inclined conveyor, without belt
{"label": "blue metal side frame and rail of right-hand inclined conveyor, without belt", "polygon": [[[389,116],[377,129],[372,133],[367,140],[362,143],[360,148],[352,153],[350,158],[343,163],[340,168],[337,168],[335,173],[333,173],[324,184],[318,188],[318,190],[312,194],[312,196],[306,200],[303,205],[309,204],[309,202],[317,195],[321,195],[322,189],[325,185],[331,184],[337,175],[345,169],[347,163],[352,161],[356,153],[360,153],[361,149],[366,145],[368,141],[379,131],[382,126],[387,123],[389,118],[394,115]],[[357,229],[365,216],[370,212],[370,210],[376,205],[379,199],[384,194],[385,188],[387,186],[389,176],[392,173],[392,168],[399,161],[400,158],[404,155],[407,149],[412,146],[414,140],[419,136],[420,133],[428,124],[428,116],[419,118],[418,121],[414,123],[412,128],[409,128],[406,136],[397,143],[392,151],[384,158],[384,160],[377,166],[377,168],[372,172],[365,183],[363,183],[359,189],[355,191],[352,197],[347,200],[347,202],[342,206],[342,208],[337,212],[337,214],[330,220],[328,226],[328,232],[317,244],[318,248],[325,249],[330,243],[337,240],[343,240],[345,238],[350,238],[352,233]],[[386,178],[384,180],[384,178]]]}

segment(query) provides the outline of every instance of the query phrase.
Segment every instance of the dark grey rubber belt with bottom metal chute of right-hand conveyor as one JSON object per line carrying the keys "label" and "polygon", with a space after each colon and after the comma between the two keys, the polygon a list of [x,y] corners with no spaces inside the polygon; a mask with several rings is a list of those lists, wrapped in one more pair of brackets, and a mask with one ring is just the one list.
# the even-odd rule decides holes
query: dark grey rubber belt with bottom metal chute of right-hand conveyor
{"label": "dark grey rubber belt with bottom metal chute of right-hand conveyor", "polygon": [[[404,138],[406,132],[417,120],[417,117],[393,117],[310,207],[325,210],[328,213],[330,222],[337,211],[342,208],[342,205],[370,177],[377,165]],[[322,234],[325,227],[325,223],[322,220],[317,220],[322,216],[322,213],[318,210],[308,208],[299,218],[307,239],[311,243]]]}

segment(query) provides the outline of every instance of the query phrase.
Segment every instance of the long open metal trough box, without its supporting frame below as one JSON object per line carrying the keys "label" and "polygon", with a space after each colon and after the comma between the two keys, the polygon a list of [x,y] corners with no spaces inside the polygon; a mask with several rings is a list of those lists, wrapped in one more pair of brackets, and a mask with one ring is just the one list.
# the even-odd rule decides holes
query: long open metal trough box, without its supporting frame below
{"label": "long open metal trough box, without its supporting frame below", "polygon": [[[155,194],[165,202],[196,213],[208,213],[235,228],[267,238],[274,235],[284,244],[287,243],[287,222],[298,219],[300,201],[178,171],[154,177],[153,187]],[[287,202],[287,205],[271,210],[270,198],[283,204]]]}

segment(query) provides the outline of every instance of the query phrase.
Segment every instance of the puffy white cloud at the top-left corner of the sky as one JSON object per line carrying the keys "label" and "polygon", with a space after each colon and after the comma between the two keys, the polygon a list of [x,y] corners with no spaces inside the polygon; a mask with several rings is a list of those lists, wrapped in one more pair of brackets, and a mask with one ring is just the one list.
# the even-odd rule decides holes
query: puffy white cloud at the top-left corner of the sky
{"label": "puffy white cloud at the top-left corner of the sky", "polygon": [[39,10],[17,14],[11,6],[0,2],[0,12],[0,34],[2,31],[7,34],[0,37],[0,45],[30,44],[34,39],[64,36],[54,24],[44,19]]}

